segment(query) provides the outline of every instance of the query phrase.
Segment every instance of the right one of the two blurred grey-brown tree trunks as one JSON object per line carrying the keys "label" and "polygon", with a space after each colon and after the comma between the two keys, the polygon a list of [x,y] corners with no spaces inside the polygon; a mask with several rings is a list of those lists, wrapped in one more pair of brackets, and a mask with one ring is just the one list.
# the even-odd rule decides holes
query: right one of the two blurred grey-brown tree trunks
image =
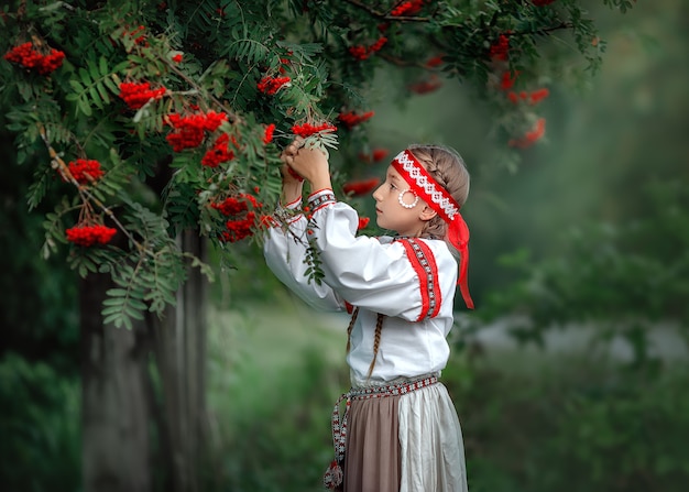
{"label": "right one of the two blurred grey-brown tree trunks", "polygon": [[[198,231],[178,237],[179,248],[205,260],[206,242]],[[206,278],[189,269],[177,293],[177,305],[155,319],[155,353],[162,384],[162,425],[172,475],[165,490],[197,492],[206,435]]]}

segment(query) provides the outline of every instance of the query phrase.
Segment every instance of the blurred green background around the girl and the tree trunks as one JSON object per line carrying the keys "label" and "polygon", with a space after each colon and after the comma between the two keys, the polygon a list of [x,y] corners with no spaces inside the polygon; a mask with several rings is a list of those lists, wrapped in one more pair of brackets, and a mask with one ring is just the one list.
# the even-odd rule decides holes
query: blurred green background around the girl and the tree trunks
{"label": "blurred green background around the girl and the tree trunks", "polygon": [[[406,100],[382,74],[373,89],[372,146],[445,143],[472,172],[478,309],[458,306],[444,372],[472,492],[674,492],[689,480],[689,4],[621,15],[600,3],[601,72],[575,88],[543,81],[546,139],[516,168],[457,83]],[[31,170],[7,165],[10,142],[0,151],[0,489],[78,491],[74,275],[40,260],[41,216],[22,198]],[[309,310],[255,247],[239,248],[241,266],[212,288],[205,490],[320,490],[348,385],[347,318]]]}

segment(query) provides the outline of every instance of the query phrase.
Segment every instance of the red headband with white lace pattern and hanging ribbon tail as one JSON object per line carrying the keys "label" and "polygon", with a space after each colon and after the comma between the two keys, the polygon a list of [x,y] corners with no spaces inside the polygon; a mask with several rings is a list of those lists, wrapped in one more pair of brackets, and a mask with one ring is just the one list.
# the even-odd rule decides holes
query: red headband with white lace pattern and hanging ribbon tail
{"label": "red headband with white lace pattern and hanging ribbon tail", "polygon": [[452,196],[438,184],[420,162],[408,151],[402,151],[392,161],[392,166],[400,173],[412,190],[433,208],[448,225],[447,239],[459,251],[460,292],[469,309],[473,309],[473,300],[469,294],[467,272],[469,270],[469,227],[461,214],[459,205]]}

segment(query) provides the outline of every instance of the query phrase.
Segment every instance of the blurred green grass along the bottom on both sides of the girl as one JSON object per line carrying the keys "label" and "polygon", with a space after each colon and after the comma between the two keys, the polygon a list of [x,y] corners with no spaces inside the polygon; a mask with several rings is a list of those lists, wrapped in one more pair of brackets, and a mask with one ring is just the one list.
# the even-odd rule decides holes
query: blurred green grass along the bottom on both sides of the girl
{"label": "blurred green grass along the bottom on both sides of the girl", "polygon": [[[348,386],[347,315],[280,293],[214,311],[207,490],[320,491],[329,414]],[[686,363],[632,368],[590,352],[453,349],[472,492],[679,492],[689,480]]]}

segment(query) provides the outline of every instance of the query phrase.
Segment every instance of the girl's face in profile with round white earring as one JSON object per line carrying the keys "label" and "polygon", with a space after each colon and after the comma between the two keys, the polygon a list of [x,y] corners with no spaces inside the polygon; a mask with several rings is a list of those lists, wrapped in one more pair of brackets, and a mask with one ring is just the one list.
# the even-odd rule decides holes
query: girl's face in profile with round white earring
{"label": "girl's face in profile with round white earring", "polygon": [[412,207],[404,207],[402,203],[412,205],[416,195],[409,185],[391,165],[387,167],[385,181],[373,192],[375,199],[375,218],[378,226],[397,232],[400,236],[416,237],[422,233],[426,223],[425,216],[428,206],[420,198]]}

